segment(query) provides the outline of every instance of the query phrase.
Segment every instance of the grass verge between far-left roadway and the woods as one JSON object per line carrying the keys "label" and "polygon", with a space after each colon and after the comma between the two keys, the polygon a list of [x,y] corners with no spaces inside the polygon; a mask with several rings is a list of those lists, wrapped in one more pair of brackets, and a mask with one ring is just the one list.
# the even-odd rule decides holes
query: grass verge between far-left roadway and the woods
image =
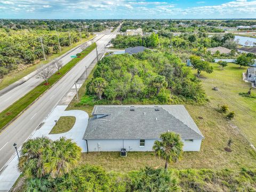
{"label": "grass verge between far-left roadway and the woods", "polygon": [[91,39],[92,37],[94,36],[90,36],[89,38],[85,38],[85,39],[82,39],[81,42],[77,42],[75,44],[73,44],[71,47],[68,46],[68,47],[61,47],[61,53],[57,53],[57,54],[52,54],[50,55],[49,57],[46,58],[46,61],[45,60],[41,60],[39,63],[37,63],[36,65],[33,65],[33,66],[30,66],[30,67],[27,67],[26,69],[22,70],[22,71],[13,71],[12,73],[4,76],[4,78],[2,79],[2,82],[0,83],[0,90],[1,89],[4,89],[4,87],[18,81],[19,79],[27,76],[28,74],[30,74],[31,72],[33,72],[34,70],[36,70],[37,66],[39,65],[44,65],[46,63],[49,63],[50,61],[52,61],[53,59],[55,58],[58,58],[60,57],[62,54],[68,52],[69,50],[73,49],[74,47],[76,47],[77,45],[80,45],[86,41],[88,41],[89,39]]}

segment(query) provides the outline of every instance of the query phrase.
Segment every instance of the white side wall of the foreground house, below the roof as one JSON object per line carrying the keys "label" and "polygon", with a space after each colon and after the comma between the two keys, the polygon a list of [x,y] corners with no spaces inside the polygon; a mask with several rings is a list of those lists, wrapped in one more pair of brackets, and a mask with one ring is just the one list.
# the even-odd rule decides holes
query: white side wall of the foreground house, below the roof
{"label": "white side wall of the foreground house, below the roof", "polygon": [[[183,151],[199,151],[202,139],[194,139],[193,142],[185,142]],[[86,141],[85,141],[86,142]],[[112,139],[112,140],[87,140],[88,149],[93,151],[120,151],[125,148],[127,151],[153,151],[154,139],[145,139],[145,147],[140,147],[139,139]]]}

